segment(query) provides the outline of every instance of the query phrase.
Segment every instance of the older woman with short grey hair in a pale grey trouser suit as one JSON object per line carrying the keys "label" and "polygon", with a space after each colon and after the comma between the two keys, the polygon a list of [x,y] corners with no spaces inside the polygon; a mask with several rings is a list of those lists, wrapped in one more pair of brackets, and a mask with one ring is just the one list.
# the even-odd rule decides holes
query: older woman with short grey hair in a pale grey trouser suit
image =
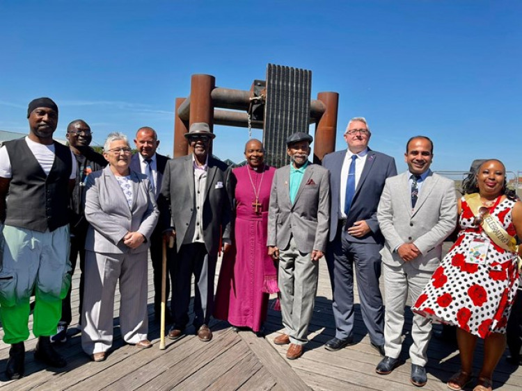
{"label": "older woman with short grey hair in a pale grey trouser suit", "polygon": [[122,133],[104,144],[109,165],[87,179],[84,308],[81,347],[103,361],[113,340],[116,283],[120,283],[123,340],[141,349],[147,339],[147,250],[158,208],[147,176],[129,169],[131,149]]}

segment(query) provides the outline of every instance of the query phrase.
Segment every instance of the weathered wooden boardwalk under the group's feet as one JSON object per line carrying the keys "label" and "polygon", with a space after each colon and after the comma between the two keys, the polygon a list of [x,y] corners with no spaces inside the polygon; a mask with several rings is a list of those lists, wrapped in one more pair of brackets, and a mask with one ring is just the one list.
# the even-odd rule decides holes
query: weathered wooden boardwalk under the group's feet
{"label": "weathered wooden boardwalk under the group's feet", "polygon": [[[72,305],[77,312],[79,272],[73,277]],[[270,310],[266,324],[267,338],[253,333],[234,333],[226,322],[213,321],[214,339],[200,342],[194,335],[173,342],[159,350],[159,324],[152,317],[152,271],[149,270],[149,338],[152,349],[137,349],[122,342],[118,328],[118,308],[114,313],[113,349],[102,363],[93,363],[81,350],[80,335],[69,330],[68,342],[56,349],[68,360],[63,369],[50,369],[35,362],[32,349],[36,340],[26,341],[26,372],[22,379],[7,381],[3,370],[9,345],[0,342],[0,389],[3,390],[406,390],[415,389],[409,382],[408,349],[411,313],[406,310],[405,340],[402,359],[406,363],[392,374],[381,376],[374,369],[381,357],[370,347],[356,308],[355,339],[357,344],[340,351],[324,349],[333,337],[335,324],[331,310],[331,288],[324,261],[319,272],[319,290],[310,324],[310,342],[303,357],[290,361],[286,347],[273,343],[282,332],[280,313]],[[119,296],[116,297],[116,303]],[[32,321],[32,316],[31,316]],[[73,318],[73,324],[77,317]],[[32,324],[31,324],[32,326]],[[438,328],[440,326],[434,326]],[[187,329],[187,333],[193,328]],[[0,337],[3,331],[0,329]],[[445,381],[459,367],[459,352],[451,344],[436,339],[430,342],[428,383],[425,390],[448,390]],[[475,372],[482,360],[482,346],[477,348]],[[521,390],[522,367],[506,363],[503,358],[494,378],[496,390]],[[473,388],[469,388],[472,390]]]}

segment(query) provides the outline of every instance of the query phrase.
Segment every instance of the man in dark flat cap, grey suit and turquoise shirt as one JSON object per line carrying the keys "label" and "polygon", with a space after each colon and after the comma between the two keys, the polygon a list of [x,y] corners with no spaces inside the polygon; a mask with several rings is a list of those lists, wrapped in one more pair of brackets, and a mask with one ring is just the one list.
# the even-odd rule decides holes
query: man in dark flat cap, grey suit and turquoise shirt
{"label": "man in dark flat cap, grey suit and turquoise shirt", "polygon": [[326,251],[329,226],[329,173],[308,161],[312,136],[287,139],[291,163],[276,170],[270,192],[268,253],[279,262],[278,285],[285,332],[275,344],[290,344],[287,358],[303,355],[313,314],[319,259]]}

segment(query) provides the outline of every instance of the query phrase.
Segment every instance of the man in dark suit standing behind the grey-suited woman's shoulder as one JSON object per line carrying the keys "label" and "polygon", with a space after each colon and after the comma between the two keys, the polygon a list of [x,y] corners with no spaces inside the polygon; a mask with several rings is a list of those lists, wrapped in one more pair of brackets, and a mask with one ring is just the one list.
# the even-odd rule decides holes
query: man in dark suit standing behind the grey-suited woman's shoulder
{"label": "man in dark suit standing behind the grey-suited woman's shoulder", "polygon": [[[168,161],[168,157],[156,153],[159,140],[156,131],[149,126],[143,126],[136,132],[134,139],[138,153],[134,153],[131,158],[130,168],[136,172],[141,172],[148,176],[152,185],[152,191],[156,194],[157,203],[161,203],[161,182],[163,173]],[[159,217],[161,219],[161,216]],[[168,258],[173,255],[173,251],[168,250]],[[161,224],[157,224],[150,237],[150,259],[152,260],[152,270],[154,271],[154,319],[158,322],[161,315]],[[166,274],[166,299],[171,290],[170,278],[168,277],[168,263]],[[166,312],[166,321],[171,322],[171,315]]]}

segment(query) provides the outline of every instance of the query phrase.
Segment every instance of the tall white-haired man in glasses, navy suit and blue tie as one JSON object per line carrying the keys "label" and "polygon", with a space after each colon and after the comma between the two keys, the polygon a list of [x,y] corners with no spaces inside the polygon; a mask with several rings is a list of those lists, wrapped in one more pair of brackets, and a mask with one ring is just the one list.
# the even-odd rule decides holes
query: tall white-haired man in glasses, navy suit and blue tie
{"label": "tall white-haired man in glasses, navy suit and blue tie", "polygon": [[368,148],[370,128],[363,117],[352,118],[345,131],[348,149],[324,156],[331,178],[329,246],[326,263],[333,292],[335,338],[325,348],[336,351],[354,343],[354,269],[363,321],[370,343],[384,356],[384,308],[379,289],[384,239],[377,206],[395,160]]}

